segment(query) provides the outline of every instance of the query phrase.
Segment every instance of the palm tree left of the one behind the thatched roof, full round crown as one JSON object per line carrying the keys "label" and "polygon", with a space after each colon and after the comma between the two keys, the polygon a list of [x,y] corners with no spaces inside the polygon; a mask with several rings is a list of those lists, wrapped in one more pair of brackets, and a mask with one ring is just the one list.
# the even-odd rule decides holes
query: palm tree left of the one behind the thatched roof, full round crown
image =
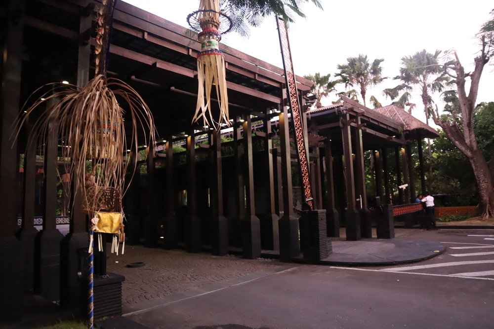
{"label": "palm tree left of the one behind the thatched roof, full round crown", "polygon": [[364,101],[364,106],[366,105],[366,94],[367,89],[371,86],[375,86],[382,82],[385,77],[382,77],[381,63],[384,59],[374,59],[374,61],[369,63],[367,55],[360,54],[358,57],[348,57],[347,64],[338,65],[339,73],[335,76],[339,76],[345,86],[359,86],[360,95]]}

